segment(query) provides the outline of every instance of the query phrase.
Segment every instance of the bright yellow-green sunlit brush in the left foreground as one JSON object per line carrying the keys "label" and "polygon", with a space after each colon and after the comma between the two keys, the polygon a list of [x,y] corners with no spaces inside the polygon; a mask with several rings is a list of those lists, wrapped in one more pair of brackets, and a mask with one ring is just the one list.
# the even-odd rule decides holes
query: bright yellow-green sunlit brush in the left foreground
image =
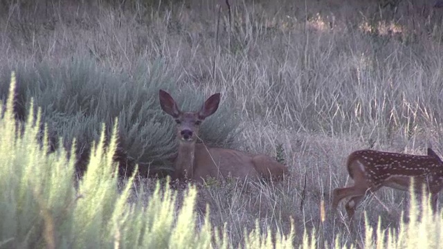
{"label": "bright yellow-green sunlit brush in the left foreground", "polygon": [[[13,104],[14,88],[12,74],[6,107]],[[33,107],[33,101],[30,105]],[[231,247],[226,237],[213,237],[208,215],[197,228],[195,187],[186,192],[178,214],[177,194],[161,187],[159,182],[147,205],[143,205],[141,198],[128,203],[134,176],[123,185],[123,190],[118,189],[118,178],[114,177],[117,165],[113,160],[116,125],[107,146],[104,131],[100,140],[93,143],[87,171],[75,188],[74,162],[67,158],[67,151],[59,148],[56,153],[47,154],[48,143],[41,146],[36,140],[40,116],[40,111],[36,120],[28,115],[21,135],[10,108],[0,120],[0,247]],[[47,139],[45,136],[44,141]],[[143,196],[143,188],[138,193]],[[251,244],[260,244],[260,237],[253,234]],[[290,244],[292,236],[279,237],[279,241]]]}

